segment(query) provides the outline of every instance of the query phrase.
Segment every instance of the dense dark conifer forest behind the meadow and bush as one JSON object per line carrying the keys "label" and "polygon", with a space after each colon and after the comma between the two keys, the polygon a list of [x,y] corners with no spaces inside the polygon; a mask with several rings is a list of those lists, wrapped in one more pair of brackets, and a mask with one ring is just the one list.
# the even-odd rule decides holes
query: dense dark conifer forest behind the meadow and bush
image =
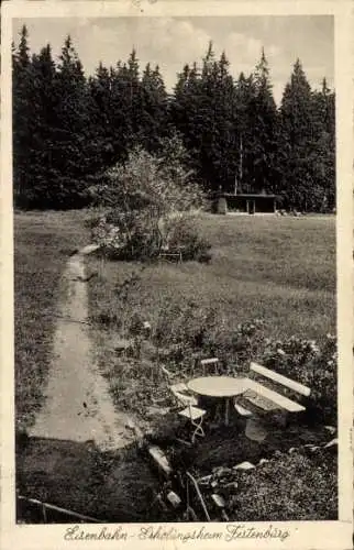
{"label": "dense dark conifer forest behind the meadow and bush", "polygon": [[31,53],[23,26],[13,44],[13,190],[24,209],[91,202],[107,168],[141,146],[158,155],[179,136],[193,180],[214,191],[273,193],[284,208],[335,207],[335,96],[311,89],[296,59],[280,105],[265,52],[250,75],[231,76],[228,53],[207,45],[166,90],[158,66],[126,61],[85,74],[70,36],[58,61],[51,45]]}

